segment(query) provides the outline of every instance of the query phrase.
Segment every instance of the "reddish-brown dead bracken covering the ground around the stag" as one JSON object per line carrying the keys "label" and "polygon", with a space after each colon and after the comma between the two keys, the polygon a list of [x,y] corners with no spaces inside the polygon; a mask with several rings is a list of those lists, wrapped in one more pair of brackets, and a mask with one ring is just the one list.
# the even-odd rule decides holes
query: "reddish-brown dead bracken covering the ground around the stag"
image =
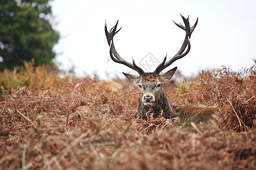
{"label": "reddish-brown dead bracken covering the ground around the stag", "polygon": [[44,66],[1,73],[1,169],[254,169],[255,65],[200,73],[167,92],[175,104],[225,107],[220,124],[137,118],[137,90],[60,78]]}

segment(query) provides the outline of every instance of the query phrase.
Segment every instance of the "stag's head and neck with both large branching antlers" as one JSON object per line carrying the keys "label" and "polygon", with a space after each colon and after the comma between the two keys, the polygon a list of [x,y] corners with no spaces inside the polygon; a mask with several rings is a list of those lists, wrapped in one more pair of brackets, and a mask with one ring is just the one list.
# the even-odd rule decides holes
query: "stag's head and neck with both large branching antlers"
{"label": "stag's head and neck with both large branching antlers", "polygon": [[[182,16],[182,15],[181,15]],[[108,45],[110,46],[110,57],[113,61],[117,63],[121,63],[129,68],[137,71],[139,75],[132,75],[123,73],[130,82],[137,84],[140,88],[140,96],[139,96],[139,104],[138,104],[138,112],[140,118],[146,119],[146,113],[154,113],[154,117],[157,117],[161,112],[163,113],[163,117],[172,118],[174,117],[174,112],[172,111],[170,104],[167,100],[165,92],[162,89],[162,84],[167,80],[170,80],[177,67],[166,71],[163,74],[160,74],[163,69],[170,66],[174,61],[180,59],[188,54],[190,51],[190,37],[191,33],[194,31],[196,24],[198,23],[198,19],[196,19],[196,23],[190,27],[190,23],[188,18],[184,18],[182,16],[184,25],[177,24],[174,22],[179,28],[186,31],[186,37],[184,42],[179,49],[178,53],[174,55],[169,61],[166,62],[166,57],[163,59],[163,62],[157,66],[156,70],[153,73],[145,73],[139,66],[135,64],[135,61],[132,58],[132,63],[125,61],[117,52],[114,46],[113,37],[116,35],[120,29],[116,30],[118,21],[116,25],[110,29],[110,32],[107,31],[107,25],[105,23],[105,33],[108,41]],[[186,52],[184,50],[187,48]]]}

